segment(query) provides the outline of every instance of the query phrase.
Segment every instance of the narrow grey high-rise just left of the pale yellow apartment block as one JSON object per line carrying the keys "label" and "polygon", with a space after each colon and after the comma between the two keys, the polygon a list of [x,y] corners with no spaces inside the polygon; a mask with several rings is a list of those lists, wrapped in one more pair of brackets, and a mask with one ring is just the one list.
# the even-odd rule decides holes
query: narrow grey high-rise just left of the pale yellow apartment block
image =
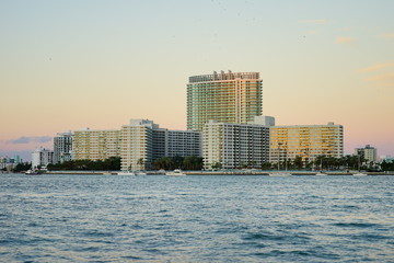
{"label": "narrow grey high-rise just left of the pale yellow apartment block", "polygon": [[72,133],[58,133],[54,138],[54,163],[71,160]]}

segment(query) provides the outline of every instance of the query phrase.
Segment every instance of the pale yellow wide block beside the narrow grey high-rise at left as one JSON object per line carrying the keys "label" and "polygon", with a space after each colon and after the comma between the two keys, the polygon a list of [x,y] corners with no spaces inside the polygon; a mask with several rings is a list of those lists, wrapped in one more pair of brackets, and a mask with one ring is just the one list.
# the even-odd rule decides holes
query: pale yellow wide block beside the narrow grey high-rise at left
{"label": "pale yellow wide block beside the narrow grey high-rise at left", "polygon": [[73,160],[105,160],[120,156],[120,130],[81,129],[73,133]]}

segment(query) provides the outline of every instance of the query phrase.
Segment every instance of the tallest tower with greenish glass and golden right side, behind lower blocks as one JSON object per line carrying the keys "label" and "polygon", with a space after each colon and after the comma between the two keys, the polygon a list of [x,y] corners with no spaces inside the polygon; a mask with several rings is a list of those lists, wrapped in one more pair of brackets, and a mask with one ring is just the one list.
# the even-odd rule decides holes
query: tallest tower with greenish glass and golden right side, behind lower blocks
{"label": "tallest tower with greenish glass and golden right side, behind lower blocks", "polygon": [[263,80],[258,72],[231,72],[189,77],[187,129],[202,130],[210,119],[246,124],[262,115]]}

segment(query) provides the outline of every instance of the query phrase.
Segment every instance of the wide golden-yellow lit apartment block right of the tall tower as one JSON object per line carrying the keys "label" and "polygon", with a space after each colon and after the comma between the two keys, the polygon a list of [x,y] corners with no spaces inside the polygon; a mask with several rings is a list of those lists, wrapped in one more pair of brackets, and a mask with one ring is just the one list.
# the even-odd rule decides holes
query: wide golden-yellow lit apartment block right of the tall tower
{"label": "wide golden-yellow lit apartment block right of the tall tower", "polygon": [[340,158],[344,156],[344,128],[341,125],[271,126],[269,161],[278,163],[301,157],[304,162],[318,156]]}

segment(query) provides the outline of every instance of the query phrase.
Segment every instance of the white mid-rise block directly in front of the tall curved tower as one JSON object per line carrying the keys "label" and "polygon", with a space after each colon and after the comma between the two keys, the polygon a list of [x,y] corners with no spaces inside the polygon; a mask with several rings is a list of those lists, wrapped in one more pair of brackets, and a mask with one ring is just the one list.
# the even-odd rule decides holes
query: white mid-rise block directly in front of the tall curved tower
{"label": "white mid-rise block directly in front of the tall curved tower", "polygon": [[209,121],[202,132],[204,169],[260,169],[268,162],[269,126],[258,117],[248,124]]}

